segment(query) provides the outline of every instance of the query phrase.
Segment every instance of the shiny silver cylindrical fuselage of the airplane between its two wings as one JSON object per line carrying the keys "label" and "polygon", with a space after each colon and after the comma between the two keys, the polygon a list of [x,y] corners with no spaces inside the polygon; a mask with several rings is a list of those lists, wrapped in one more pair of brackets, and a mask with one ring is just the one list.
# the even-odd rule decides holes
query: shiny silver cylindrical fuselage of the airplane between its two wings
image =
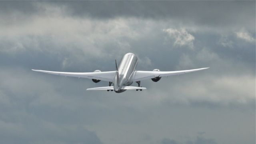
{"label": "shiny silver cylindrical fuselage of the airplane between its two wings", "polygon": [[[127,53],[123,56],[113,81],[114,91],[116,93],[124,92],[124,86],[130,86],[133,82],[133,75],[138,64],[138,58],[133,53]],[[119,75],[119,78],[118,78]]]}

